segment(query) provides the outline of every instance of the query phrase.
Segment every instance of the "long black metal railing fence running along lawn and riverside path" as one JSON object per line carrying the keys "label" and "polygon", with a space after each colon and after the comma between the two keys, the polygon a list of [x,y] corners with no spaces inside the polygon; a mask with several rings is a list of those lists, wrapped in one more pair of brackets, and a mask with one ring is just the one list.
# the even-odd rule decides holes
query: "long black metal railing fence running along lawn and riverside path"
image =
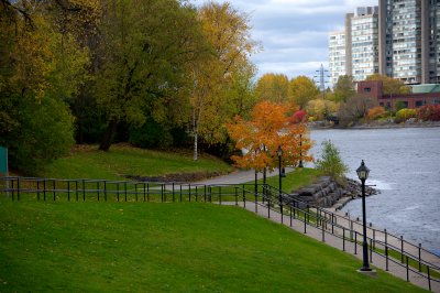
{"label": "long black metal railing fence running along lawn and riverside path", "polygon": [[[322,241],[326,235],[341,240],[342,250],[350,243],[354,253],[361,243],[362,221],[341,216],[327,209],[309,206],[293,199],[270,185],[202,185],[190,183],[158,183],[106,180],[58,180],[9,176],[0,177],[0,195],[11,200],[64,200],[64,202],[204,202],[232,203],[246,207],[253,205],[255,213],[264,208],[267,217],[280,214],[280,221],[293,226],[297,220],[304,224],[304,232],[309,227],[321,231]],[[249,207],[249,206],[248,206]],[[370,258],[373,253],[384,258],[386,270],[389,264],[403,267],[409,272],[427,280],[431,290],[432,282],[440,283],[440,268],[430,259],[439,259],[421,245],[414,245],[386,230],[369,227]]]}

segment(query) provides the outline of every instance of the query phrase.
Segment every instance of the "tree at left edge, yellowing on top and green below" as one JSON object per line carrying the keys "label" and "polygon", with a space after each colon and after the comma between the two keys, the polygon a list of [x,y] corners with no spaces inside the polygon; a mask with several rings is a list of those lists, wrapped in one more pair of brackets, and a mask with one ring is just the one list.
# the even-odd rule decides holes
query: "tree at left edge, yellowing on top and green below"
{"label": "tree at left edge, yellowing on top and green below", "polygon": [[[7,1],[8,2],[8,1]],[[26,173],[69,151],[73,117],[66,106],[86,74],[87,51],[61,33],[46,2],[0,8],[0,144]],[[4,40],[4,42],[3,42]]]}

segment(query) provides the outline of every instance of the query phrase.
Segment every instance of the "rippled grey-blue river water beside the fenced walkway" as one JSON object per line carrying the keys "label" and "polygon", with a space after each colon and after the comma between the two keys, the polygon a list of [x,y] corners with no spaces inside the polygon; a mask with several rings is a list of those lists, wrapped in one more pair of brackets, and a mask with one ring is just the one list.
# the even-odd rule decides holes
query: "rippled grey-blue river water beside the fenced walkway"
{"label": "rippled grey-blue river water beside the fenced walkway", "polygon": [[[366,198],[367,223],[440,254],[440,128],[312,130],[310,139],[315,159],[321,142],[331,140],[350,167],[348,177],[358,180],[364,160],[366,184],[381,189]],[[360,199],[342,210],[362,218]]]}

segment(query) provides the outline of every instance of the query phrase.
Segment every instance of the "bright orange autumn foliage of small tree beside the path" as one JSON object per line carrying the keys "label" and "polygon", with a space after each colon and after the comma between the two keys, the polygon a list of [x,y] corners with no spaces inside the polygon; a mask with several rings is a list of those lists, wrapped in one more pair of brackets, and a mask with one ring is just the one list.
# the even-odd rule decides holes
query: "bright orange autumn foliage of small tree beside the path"
{"label": "bright orange autumn foliage of small tree beside the path", "polygon": [[294,110],[287,105],[261,101],[253,108],[250,120],[237,117],[234,123],[228,124],[235,148],[248,151],[231,156],[235,165],[260,172],[272,171],[277,165],[278,145],[283,148],[284,166],[296,166],[300,160],[312,161],[308,154],[311,143],[306,135],[307,127],[302,122],[290,122],[288,115]]}

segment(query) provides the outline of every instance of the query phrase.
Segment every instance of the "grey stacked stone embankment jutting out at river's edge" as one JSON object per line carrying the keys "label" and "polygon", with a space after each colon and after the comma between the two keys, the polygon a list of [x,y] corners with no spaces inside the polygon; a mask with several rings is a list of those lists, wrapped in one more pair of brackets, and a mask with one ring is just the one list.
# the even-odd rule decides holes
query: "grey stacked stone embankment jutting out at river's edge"
{"label": "grey stacked stone embankment jutting out at river's edge", "polygon": [[[365,187],[366,196],[377,193],[377,189]],[[287,195],[286,200],[297,199],[305,203],[304,205],[318,207],[332,207],[338,204],[336,208],[341,209],[348,202],[360,196],[362,187],[359,182],[346,178],[341,184],[331,177],[322,176],[316,183]]]}

